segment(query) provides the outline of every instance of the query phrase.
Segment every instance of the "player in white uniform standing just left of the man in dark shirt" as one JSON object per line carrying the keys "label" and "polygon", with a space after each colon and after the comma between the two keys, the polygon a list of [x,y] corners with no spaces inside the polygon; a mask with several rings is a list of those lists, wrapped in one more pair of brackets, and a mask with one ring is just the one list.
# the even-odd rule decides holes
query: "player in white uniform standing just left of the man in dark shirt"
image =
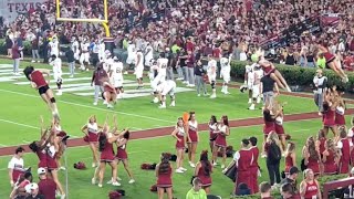
{"label": "player in white uniform standing just left of the man in dark shirt", "polygon": [[263,70],[260,65],[256,64],[253,66],[252,72],[253,78],[252,78],[252,102],[249,109],[254,109],[256,104],[259,104],[261,102],[261,78],[263,77]]}

